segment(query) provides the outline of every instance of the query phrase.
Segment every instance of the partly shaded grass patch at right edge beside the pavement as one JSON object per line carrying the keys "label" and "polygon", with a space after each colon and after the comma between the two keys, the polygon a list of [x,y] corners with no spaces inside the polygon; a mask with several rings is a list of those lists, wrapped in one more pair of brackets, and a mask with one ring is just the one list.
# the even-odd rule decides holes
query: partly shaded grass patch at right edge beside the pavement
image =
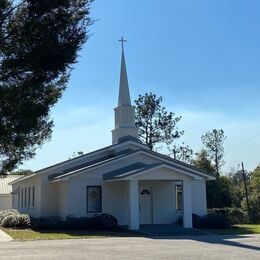
{"label": "partly shaded grass patch at right edge beside the pavement", "polygon": [[260,234],[260,224],[235,225],[231,229],[210,229],[208,231],[218,235]]}

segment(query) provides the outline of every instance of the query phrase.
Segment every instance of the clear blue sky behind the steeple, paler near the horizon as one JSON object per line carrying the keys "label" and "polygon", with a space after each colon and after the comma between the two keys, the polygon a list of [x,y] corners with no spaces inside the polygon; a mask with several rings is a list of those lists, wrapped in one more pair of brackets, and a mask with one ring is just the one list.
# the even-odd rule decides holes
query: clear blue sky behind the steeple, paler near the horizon
{"label": "clear blue sky behind the steeple, paler near the horizon", "polygon": [[181,142],[194,151],[222,128],[225,167],[260,163],[260,1],[96,0],[92,36],[52,109],[52,139],[21,168],[40,169],[73,152],[111,144],[121,36],[132,100],[153,92],[183,118]]}

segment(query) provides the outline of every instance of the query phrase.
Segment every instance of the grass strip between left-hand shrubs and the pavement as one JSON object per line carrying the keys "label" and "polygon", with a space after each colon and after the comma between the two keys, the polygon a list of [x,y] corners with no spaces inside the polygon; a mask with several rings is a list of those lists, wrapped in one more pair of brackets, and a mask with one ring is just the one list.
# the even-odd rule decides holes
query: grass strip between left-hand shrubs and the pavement
{"label": "grass strip between left-hand shrubs and the pavement", "polygon": [[51,239],[79,239],[79,238],[105,238],[105,237],[128,237],[138,236],[127,230],[118,231],[87,231],[87,230],[41,230],[31,229],[17,230],[2,228],[4,232],[15,240],[51,240]]}

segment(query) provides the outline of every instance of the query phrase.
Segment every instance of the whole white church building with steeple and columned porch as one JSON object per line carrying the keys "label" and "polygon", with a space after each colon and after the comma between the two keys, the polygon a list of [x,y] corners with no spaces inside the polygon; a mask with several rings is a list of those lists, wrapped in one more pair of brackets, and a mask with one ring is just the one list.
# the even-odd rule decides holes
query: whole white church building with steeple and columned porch
{"label": "whole white church building with steeple and columned porch", "polygon": [[138,139],[122,48],[112,145],[14,180],[13,207],[33,217],[108,213],[131,230],[205,215],[206,181],[197,168],[151,151]]}

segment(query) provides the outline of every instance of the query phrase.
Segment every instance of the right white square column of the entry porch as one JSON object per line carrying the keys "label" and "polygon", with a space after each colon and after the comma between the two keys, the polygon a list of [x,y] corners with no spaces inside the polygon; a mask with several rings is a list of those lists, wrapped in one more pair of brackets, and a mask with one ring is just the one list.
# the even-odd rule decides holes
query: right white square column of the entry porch
{"label": "right white square column of the entry porch", "polygon": [[183,227],[192,228],[191,181],[183,180]]}

